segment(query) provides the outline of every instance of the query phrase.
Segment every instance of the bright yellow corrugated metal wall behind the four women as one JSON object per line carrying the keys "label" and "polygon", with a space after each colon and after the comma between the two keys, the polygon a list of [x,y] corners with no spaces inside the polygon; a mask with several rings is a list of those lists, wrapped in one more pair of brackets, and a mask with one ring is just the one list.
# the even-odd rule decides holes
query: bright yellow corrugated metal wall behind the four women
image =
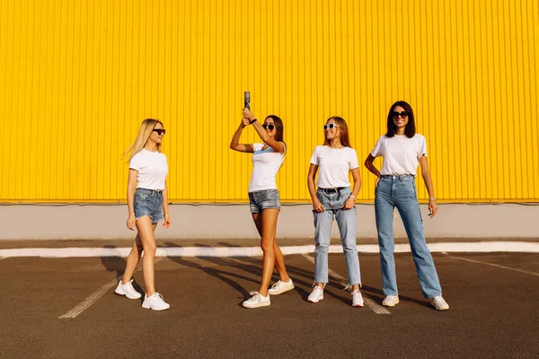
{"label": "bright yellow corrugated metal wall behind the four women", "polygon": [[327,118],[362,162],[396,100],[440,202],[538,202],[537,63],[536,0],[0,0],[0,201],[124,201],[119,158],[148,117],[172,201],[246,201],[251,158],[228,144],[249,90],[285,121],[287,202],[309,198]]}

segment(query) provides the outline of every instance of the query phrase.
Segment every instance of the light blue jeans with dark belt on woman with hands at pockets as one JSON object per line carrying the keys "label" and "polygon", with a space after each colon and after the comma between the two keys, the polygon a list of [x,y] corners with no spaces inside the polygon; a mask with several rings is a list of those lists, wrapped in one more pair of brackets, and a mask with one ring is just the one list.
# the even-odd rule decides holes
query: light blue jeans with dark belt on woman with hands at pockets
{"label": "light blue jeans with dark belt on woman with hands at pockets", "polygon": [[333,216],[339,224],[340,241],[344,250],[344,258],[349,273],[349,285],[361,285],[359,272],[358,247],[356,246],[356,206],[343,210],[340,206],[350,196],[350,188],[340,192],[326,193],[322,189],[316,191],[316,197],[322,202],[325,211],[314,213],[314,282],[328,283],[328,250],[331,241],[331,223]]}

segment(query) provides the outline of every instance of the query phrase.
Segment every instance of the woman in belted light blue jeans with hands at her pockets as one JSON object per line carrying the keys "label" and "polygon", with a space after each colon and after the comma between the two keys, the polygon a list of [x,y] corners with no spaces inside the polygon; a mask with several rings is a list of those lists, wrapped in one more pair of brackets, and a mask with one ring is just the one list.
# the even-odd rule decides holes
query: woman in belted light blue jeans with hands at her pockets
{"label": "woman in belted light blue jeans with hands at her pockets", "polygon": [[[309,302],[323,300],[323,288],[328,283],[328,250],[331,241],[331,223],[337,220],[340,241],[352,286],[352,306],[362,307],[363,297],[359,292],[358,248],[356,246],[355,200],[361,188],[358,155],[349,144],[348,127],[343,118],[332,117],[323,127],[325,141],[314,148],[307,176],[309,193],[313,199],[314,213],[314,289]],[[320,171],[319,171],[320,170]],[[349,172],[354,178],[350,191]],[[316,179],[316,172],[318,179]],[[316,186],[314,187],[314,180]]]}

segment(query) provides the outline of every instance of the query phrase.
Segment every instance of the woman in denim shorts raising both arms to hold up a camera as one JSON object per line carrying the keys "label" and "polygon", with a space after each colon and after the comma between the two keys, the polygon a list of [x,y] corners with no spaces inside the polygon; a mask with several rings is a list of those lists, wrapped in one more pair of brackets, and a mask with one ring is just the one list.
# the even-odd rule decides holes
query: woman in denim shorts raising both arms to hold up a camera
{"label": "woman in denim shorts raising both arms to hold up a camera", "polygon": [[[261,137],[263,144],[239,144],[243,128],[251,125]],[[285,293],[294,288],[287,274],[285,258],[275,241],[277,219],[280,212],[280,197],[275,176],[285,160],[287,146],[283,142],[283,121],[270,115],[260,124],[251,110],[243,109],[240,127],[234,133],[230,148],[234,151],[252,153],[252,177],[249,184],[249,202],[252,220],[261,235],[261,248],[264,254],[262,282],[258,292],[243,302],[245,308],[259,308],[270,305],[270,294]],[[279,280],[270,286],[273,268],[277,267]]]}

